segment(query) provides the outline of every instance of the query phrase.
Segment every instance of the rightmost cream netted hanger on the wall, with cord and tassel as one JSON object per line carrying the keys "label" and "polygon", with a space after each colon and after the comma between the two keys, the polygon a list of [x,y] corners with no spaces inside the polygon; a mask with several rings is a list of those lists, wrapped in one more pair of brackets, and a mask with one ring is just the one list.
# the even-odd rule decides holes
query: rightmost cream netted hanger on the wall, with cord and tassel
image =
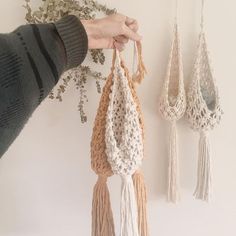
{"label": "rightmost cream netted hanger on the wall, with cord and tassel", "polygon": [[187,92],[186,116],[192,129],[200,133],[198,150],[198,176],[194,196],[208,201],[211,197],[211,150],[208,132],[221,120],[218,88],[213,77],[204,31],[204,5],[202,0],[201,32],[192,81]]}

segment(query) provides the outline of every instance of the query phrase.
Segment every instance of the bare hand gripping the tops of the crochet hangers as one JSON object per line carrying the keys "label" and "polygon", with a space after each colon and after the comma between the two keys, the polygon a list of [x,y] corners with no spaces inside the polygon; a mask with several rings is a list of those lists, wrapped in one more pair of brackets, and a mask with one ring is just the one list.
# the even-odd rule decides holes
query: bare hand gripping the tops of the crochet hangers
{"label": "bare hand gripping the tops of the crochet hangers", "polygon": [[89,49],[117,48],[122,51],[129,40],[141,40],[137,21],[121,14],[81,22],[88,35]]}

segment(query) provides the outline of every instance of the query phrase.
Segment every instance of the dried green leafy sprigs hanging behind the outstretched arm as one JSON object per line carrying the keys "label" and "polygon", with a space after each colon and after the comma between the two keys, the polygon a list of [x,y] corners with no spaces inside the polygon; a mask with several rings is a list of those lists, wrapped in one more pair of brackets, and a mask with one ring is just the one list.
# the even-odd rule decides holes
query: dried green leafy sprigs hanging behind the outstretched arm
{"label": "dried green leafy sprigs hanging behind the outstretched arm", "polygon": [[[32,0],[24,0],[24,2],[23,7],[26,9],[25,19],[28,23],[55,22],[68,14],[76,15],[79,19],[89,20],[94,19],[97,14],[110,15],[116,11],[94,0],[42,0],[36,9],[32,7]],[[101,49],[89,50],[89,53],[94,63],[99,65],[104,64],[105,56]],[[101,72],[94,71],[87,65],[80,65],[64,73],[56,89],[49,94],[50,99],[62,101],[63,94],[68,85],[70,82],[73,82],[76,89],[79,90],[78,110],[82,123],[87,121],[84,109],[84,104],[88,101],[85,85],[87,79],[90,77],[96,80],[97,91],[100,93],[100,81],[105,80],[105,77]]]}

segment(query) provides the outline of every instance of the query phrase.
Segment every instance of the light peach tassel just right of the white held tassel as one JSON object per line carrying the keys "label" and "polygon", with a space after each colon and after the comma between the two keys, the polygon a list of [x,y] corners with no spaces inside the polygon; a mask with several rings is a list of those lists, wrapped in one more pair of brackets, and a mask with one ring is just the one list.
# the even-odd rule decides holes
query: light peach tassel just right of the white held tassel
{"label": "light peach tassel just right of the white held tassel", "polygon": [[136,171],[133,174],[134,190],[138,206],[138,228],[139,236],[148,236],[147,224],[147,191],[144,182],[144,177],[141,171]]}

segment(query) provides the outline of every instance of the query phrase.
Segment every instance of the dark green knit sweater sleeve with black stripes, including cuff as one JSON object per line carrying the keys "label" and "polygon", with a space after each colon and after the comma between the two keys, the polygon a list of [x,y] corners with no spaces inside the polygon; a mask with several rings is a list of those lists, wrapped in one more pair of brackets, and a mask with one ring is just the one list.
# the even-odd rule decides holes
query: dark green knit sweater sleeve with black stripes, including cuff
{"label": "dark green knit sweater sleeve with black stripes, including cuff", "polygon": [[62,73],[80,65],[87,50],[86,31],[73,15],[0,34],[0,157]]}

